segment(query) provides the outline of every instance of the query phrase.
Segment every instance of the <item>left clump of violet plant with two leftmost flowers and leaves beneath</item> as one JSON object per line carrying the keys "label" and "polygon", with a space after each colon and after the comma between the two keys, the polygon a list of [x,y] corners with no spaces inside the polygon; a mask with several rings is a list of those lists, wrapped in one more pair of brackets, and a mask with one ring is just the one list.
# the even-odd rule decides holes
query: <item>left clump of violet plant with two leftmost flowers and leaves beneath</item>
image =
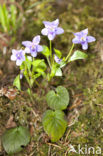
{"label": "left clump of violet plant with two leftmost flowers and leaves beneath", "polygon": [[25,77],[29,88],[28,93],[32,96],[32,87],[34,82],[39,86],[36,79],[40,76],[45,77],[46,64],[44,59],[36,59],[37,54],[43,50],[39,45],[40,36],[33,38],[33,41],[23,41],[22,45],[25,46],[21,50],[12,50],[11,60],[16,61],[16,65],[20,67],[20,74],[14,80],[14,86],[21,90],[20,79]]}

